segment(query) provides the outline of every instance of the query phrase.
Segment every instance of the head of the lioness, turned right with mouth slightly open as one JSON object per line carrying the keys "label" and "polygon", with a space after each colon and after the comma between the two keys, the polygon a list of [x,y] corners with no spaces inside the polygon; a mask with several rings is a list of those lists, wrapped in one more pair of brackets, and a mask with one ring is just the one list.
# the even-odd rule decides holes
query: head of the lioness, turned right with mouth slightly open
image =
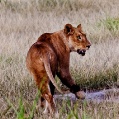
{"label": "head of the lioness, turned right with mouth slightly open", "polygon": [[79,24],[76,28],[71,24],[66,24],[64,32],[67,36],[70,51],[75,51],[84,56],[86,50],[90,48],[91,43],[88,41],[86,34],[82,31],[81,24]]}

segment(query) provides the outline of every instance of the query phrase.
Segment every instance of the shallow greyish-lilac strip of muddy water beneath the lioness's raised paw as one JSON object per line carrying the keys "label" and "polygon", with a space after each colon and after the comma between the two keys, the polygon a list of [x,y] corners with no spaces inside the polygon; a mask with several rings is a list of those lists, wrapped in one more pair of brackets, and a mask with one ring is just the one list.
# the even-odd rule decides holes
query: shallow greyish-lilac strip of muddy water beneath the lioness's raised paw
{"label": "shallow greyish-lilac strip of muddy water beneath the lioness's raised paw", "polygon": [[[61,99],[61,100],[72,100],[75,101],[77,98],[72,93],[67,93],[63,95],[54,95],[55,99]],[[110,101],[110,102],[116,102],[119,103],[119,89],[113,88],[108,90],[101,90],[97,92],[86,92],[86,98],[85,100],[89,101]]]}

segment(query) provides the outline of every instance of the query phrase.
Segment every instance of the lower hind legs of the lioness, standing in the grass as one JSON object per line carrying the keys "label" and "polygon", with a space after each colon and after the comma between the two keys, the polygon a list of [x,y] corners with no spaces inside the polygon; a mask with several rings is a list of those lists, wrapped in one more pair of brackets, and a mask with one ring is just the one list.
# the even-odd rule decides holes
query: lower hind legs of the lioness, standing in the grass
{"label": "lower hind legs of the lioness, standing in the grass", "polygon": [[[45,105],[45,110],[43,112],[44,114],[47,114],[48,112],[50,112],[50,114],[52,115],[55,112],[55,104],[54,104],[53,95],[51,92],[51,87],[49,84],[50,82],[49,78],[46,76],[42,78],[41,81],[40,79],[38,75],[35,77],[38,89],[40,90],[40,93],[41,93],[40,106],[44,107]],[[54,87],[52,91],[54,92]]]}

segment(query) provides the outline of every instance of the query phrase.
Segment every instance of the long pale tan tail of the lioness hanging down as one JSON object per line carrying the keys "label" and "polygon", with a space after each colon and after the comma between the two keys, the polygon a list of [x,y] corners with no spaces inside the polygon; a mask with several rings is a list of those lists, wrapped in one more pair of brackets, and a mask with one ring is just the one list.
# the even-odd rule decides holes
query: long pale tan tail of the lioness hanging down
{"label": "long pale tan tail of the lioness hanging down", "polygon": [[57,83],[52,75],[52,72],[51,72],[51,68],[50,68],[50,62],[49,62],[49,58],[47,57],[47,55],[43,56],[43,62],[44,62],[44,66],[45,66],[45,69],[46,69],[46,72],[47,72],[47,75],[50,79],[50,81],[52,82],[52,84],[55,86],[55,88],[61,93],[63,94],[63,91],[57,86]]}

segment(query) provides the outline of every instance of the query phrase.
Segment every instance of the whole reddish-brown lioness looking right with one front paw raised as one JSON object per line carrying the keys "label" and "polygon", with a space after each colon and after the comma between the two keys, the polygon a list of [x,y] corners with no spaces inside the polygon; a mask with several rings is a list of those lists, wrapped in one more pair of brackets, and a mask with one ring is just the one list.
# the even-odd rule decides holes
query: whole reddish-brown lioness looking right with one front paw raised
{"label": "whole reddish-brown lioness looking right with one front paw raised", "polygon": [[41,91],[41,104],[46,100],[44,113],[47,109],[50,113],[55,111],[54,89],[62,93],[55,82],[56,75],[77,98],[81,98],[80,87],[69,73],[70,52],[74,51],[84,56],[90,46],[91,43],[83,33],[81,24],[76,28],[71,24],[66,24],[63,30],[44,33],[31,46],[26,64]]}

